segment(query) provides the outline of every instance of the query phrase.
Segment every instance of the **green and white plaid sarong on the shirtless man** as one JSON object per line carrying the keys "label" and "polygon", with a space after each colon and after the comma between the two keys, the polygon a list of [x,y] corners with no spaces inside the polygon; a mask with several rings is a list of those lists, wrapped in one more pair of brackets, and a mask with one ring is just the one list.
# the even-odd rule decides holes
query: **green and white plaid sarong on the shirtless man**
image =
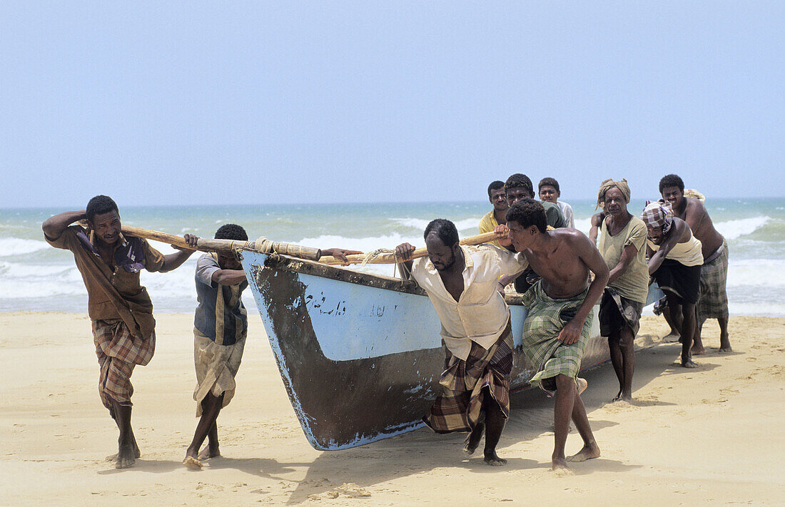
{"label": "green and white plaid sarong on the shirtless man", "polygon": [[542,280],[539,280],[524,294],[521,303],[528,308],[524,321],[524,355],[537,368],[537,374],[529,381],[531,385],[539,386],[546,378],[555,378],[558,374],[577,377],[594,312],[586,317],[581,337],[574,344],[564,345],[559,340],[559,333],[578,313],[588,291],[589,287],[586,287],[575,297],[553,299],[545,293]]}

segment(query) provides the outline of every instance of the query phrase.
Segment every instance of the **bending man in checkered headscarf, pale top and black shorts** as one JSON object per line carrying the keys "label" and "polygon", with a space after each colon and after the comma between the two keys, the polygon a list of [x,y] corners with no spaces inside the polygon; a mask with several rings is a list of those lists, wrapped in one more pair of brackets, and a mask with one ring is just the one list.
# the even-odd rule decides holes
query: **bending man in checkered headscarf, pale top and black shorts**
{"label": "bending man in checkered headscarf, pale top and black shorts", "polygon": [[673,216],[670,202],[649,202],[641,220],[646,224],[648,274],[665,293],[670,311],[681,310],[681,366],[695,368],[690,347],[696,330],[702,245],[687,222]]}

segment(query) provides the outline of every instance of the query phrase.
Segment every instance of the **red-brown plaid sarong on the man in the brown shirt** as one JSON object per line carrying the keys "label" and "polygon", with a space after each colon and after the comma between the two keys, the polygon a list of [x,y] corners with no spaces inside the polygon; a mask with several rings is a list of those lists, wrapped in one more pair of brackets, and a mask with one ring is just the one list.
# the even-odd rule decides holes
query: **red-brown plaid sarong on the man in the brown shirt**
{"label": "red-brown plaid sarong on the man in the brown shirt", "polygon": [[130,407],[133,385],[131,373],[137,364],[150,362],[155,352],[155,331],[147,340],[133,337],[121,319],[93,320],[93,340],[100,366],[98,392],[110,411],[112,402]]}

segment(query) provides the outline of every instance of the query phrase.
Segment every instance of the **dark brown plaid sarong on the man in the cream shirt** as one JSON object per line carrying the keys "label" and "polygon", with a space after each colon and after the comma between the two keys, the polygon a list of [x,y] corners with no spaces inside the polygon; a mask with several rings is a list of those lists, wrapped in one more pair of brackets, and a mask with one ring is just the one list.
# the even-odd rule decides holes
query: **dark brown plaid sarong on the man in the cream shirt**
{"label": "dark brown plaid sarong on the man in the cream shirt", "polygon": [[442,394],[422,418],[437,433],[470,432],[480,420],[485,388],[509,418],[509,381],[513,370],[513,330],[505,330],[488,350],[472,342],[466,361],[446,350]]}

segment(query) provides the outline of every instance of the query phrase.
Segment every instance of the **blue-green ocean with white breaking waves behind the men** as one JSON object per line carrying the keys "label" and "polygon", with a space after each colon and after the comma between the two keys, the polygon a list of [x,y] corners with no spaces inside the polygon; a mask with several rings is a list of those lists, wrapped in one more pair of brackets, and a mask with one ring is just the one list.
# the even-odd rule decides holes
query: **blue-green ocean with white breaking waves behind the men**
{"label": "blue-green ocean with white breaking waves behind the men", "polygon": [[[575,227],[588,234],[591,201],[570,201]],[[642,200],[629,209],[638,213]],[[714,226],[728,240],[728,299],[731,315],[785,317],[785,199],[707,199]],[[422,231],[433,218],[454,221],[461,237],[475,235],[485,202],[309,204],[297,206],[122,206],[125,225],[175,235],[212,238],[228,222],[241,224],[250,239],[319,248],[371,251],[407,241],[422,246]],[[41,224],[62,209],[0,209],[0,312],[86,312],[87,294],[71,253],[43,240]],[[174,250],[152,242],[162,253]],[[142,272],[155,312],[192,312],[194,268],[199,253],[169,273]],[[366,271],[392,275],[391,265]],[[250,291],[246,291],[250,293]],[[255,308],[251,294],[247,307]],[[647,312],[648,313],[648,312]]]}

